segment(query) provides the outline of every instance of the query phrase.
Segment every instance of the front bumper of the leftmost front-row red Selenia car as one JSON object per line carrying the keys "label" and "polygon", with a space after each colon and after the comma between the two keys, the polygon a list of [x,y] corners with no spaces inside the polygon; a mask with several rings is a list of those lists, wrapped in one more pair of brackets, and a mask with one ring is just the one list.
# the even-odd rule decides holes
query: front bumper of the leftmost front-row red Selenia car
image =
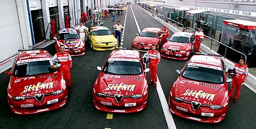
{"label": "front bumper of the leftmost front-row red Selenia car", "polygon": [[[51,95],[52,96],[52,95]],[[57,102],[55,103],[49,103],[47,101],[51,101],[53,99],[58,99]],[[10,110],[18,115],[27,115],[27,114],[36,114],[36,113],[43,113],[46,111],[51,111],[54,109],[58,109],[60,107],[63,107],[67,102],[68,102],[68,95],[67,93],[59,94],[59,95],[54,95],[54,97],[44,97],[43,101],[39,103],[38,101],[35,100],[35,98],[28,99],[27,101],[13,101],[13,100],[8,100],[9,101],[9,106]],[[33,106],[31,107],[21,107],[21,105],[29,105],[32,104]]]}

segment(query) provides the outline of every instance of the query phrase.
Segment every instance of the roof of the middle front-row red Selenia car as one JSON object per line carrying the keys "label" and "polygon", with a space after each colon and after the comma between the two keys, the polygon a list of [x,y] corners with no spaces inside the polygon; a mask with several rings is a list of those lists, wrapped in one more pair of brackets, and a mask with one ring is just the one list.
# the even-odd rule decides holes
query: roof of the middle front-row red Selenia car
{"label": "roof of the middle front-row red Selenia car", "polygon": [[113,51],[109,58],[139,59],[139,52],[131,49],[118,49]]}

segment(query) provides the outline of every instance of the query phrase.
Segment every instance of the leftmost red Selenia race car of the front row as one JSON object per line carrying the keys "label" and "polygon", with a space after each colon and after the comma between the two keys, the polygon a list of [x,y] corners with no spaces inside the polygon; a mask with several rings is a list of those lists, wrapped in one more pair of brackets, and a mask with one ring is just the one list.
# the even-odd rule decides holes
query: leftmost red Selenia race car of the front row
{"label": "leftmost red Selenia race car of the front row", "polygon": [[[57,109],[68,102],[62,74],[51,68],[46,50],[22,50],[14,62],[7,88],[7,101],[15,114],[35,114]],[[56,60],[57,62],[58,60]]]}

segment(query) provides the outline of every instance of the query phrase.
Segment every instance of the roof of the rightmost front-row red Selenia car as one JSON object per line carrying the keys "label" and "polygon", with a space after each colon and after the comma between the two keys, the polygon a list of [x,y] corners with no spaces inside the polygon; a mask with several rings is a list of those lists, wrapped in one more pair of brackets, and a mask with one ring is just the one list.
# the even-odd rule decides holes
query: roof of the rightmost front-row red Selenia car
{"label": "roof of the rightmost front-row red Selenia car", "polygon": [[189,60],[189,63],[222,67],[222,60],[220,59],[220,57],[208,56],[208,55],[194,55]]}

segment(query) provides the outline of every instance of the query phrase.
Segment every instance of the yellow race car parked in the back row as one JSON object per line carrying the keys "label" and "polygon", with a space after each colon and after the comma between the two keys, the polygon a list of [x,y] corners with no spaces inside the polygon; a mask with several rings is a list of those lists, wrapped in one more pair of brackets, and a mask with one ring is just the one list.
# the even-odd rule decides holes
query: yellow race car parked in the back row
{"label": "yellow race car parked in the back row", "polygon": [[87,34],[90,48],[97,51],[113,50],[118,47],[115,36],[107,27],[90,27]]}

